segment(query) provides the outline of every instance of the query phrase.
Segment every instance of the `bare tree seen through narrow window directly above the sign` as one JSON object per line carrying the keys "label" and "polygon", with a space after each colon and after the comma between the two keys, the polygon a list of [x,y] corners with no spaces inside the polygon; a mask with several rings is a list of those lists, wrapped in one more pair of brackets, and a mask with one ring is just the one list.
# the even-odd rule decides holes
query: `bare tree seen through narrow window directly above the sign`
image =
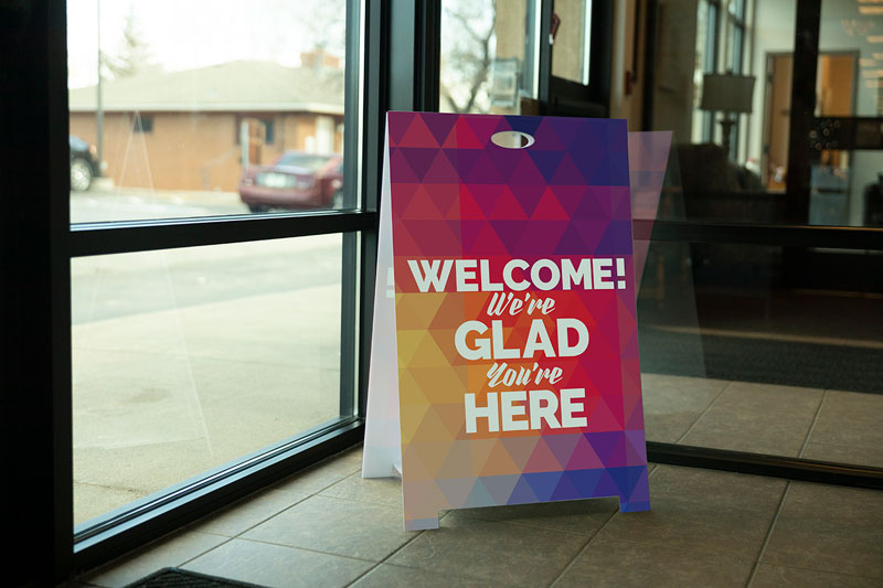
{"label": "bare tree seen through narrow window directly above the sign", "polygon": [[486,113],[490,70],[493,63],[497,1],[445,4],[444,15],[451,28],[450,49],[444,52],[442,97],[455,113]]}

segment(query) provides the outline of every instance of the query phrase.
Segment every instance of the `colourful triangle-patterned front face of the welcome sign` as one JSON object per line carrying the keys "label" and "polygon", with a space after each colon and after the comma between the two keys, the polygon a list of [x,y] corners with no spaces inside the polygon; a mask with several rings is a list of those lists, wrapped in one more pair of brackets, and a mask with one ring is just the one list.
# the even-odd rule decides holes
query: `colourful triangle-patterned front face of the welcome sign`
{"label": "colourful triangle-patterned front face of the welcome sign", "polygon": [[648,510],[625,121],[389,113],[387,145],[405,528]]}

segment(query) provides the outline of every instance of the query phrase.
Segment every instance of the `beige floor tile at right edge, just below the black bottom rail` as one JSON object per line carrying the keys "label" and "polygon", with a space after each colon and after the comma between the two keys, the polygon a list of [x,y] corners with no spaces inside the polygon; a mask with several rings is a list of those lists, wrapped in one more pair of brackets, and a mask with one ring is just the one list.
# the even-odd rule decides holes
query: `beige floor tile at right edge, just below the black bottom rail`
{"label": "beige floor tile at right edge, just below the black bottom rail", "polygon": [[764,563],[883,579],[883,492],[791,482]]}

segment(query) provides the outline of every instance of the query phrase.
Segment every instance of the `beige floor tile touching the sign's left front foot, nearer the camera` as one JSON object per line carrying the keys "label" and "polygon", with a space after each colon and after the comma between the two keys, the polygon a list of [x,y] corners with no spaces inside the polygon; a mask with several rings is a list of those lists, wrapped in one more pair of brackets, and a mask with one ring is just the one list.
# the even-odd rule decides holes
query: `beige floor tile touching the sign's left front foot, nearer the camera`
{"label": "beige floor tile touching the sign's left front foot, nearer the camera", "polygon": [[405,533],[401,507],[316,495],[243,537],[380,562],[414,534]]}

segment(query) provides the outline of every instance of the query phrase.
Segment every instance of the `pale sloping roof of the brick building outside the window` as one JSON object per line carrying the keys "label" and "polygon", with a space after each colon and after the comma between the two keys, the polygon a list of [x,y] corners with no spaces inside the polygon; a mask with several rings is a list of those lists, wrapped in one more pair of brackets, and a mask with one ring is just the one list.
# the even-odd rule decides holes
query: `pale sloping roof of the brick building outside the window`
{"label": "pale sloping roof of the brick building outside the window", "polygon": [[[95,111],[95,86],[70,90],[72,113]],[[236,61],[106,81],[104,110],[343,114],[343,71]]]}

